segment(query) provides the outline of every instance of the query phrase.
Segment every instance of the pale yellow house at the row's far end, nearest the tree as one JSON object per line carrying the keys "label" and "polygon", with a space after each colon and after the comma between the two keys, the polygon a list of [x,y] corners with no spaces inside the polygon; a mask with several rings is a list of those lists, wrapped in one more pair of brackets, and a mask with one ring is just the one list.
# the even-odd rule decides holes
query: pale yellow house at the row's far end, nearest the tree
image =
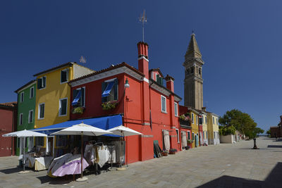
{"label": "pale yellow house at the row's far end, nearest the tree", "polygon": [[207,132],[209,144],[219,144],[219,115],[207,113]]}

